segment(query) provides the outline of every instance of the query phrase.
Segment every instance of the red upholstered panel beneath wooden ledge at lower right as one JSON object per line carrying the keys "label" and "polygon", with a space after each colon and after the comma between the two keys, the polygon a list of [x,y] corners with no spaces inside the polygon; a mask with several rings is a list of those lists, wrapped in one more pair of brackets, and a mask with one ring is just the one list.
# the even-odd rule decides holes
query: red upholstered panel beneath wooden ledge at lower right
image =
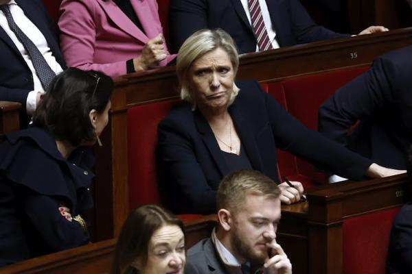
{"label": "red upholstered panel beneath wooden ledge at lower right", "polygon": [[382,210],[343,221],[344,274],[385,273],[389,233],[399,209]]}

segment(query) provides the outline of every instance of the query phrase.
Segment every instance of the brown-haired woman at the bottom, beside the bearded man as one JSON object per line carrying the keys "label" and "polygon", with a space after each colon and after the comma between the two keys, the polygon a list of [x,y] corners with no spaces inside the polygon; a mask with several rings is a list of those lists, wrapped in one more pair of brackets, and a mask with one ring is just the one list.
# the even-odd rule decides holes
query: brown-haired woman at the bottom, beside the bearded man
{"label": "brown-haired woman at the bottom, beside the bearded man", "polygon": [[183,274],[184,232],[182,221],[167,210],[137,208],[120,232],[112,274]]}

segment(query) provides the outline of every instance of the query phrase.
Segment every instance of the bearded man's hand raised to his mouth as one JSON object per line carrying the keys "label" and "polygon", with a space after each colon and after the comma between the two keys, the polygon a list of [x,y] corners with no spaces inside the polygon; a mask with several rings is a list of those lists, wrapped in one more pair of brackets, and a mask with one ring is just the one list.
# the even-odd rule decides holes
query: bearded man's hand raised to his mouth
{"label": "bearded man's hand raised to his mouth", "polygon": [[[268,238],[268,232],[264,232],[263,236]],[[268,258],[263,265],[264,268],[267,269],[267,273],[292,274],[292,264],[282,247],[276,242],[276,237],[273,238],[271,242],[267,242],[266,247],[268,247],[268,250],[270,251],[269,253],[271,254],[270,256],[272,256],[271,258]]]}

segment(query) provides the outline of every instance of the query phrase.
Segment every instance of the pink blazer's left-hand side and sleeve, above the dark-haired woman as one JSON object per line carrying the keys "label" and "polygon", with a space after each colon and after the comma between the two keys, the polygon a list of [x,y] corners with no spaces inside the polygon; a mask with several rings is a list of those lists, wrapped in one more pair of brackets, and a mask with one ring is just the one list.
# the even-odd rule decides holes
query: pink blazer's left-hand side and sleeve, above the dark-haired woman
{"label": "pink blazer's left-hand side and sleeve, above the dark-haired woman", "polygon": [[[62,1],[58,21],[60,48],[67,66],[102,71],[111,77],[124,75],[126,61],[137,57],[149,38],[144,34],[141,39],[131,38],[108,18],[98,1]],[[98,34],[105,40],[96,40]],[[174,59],[174,55],[167,54],[160,62],[162,66]]]}

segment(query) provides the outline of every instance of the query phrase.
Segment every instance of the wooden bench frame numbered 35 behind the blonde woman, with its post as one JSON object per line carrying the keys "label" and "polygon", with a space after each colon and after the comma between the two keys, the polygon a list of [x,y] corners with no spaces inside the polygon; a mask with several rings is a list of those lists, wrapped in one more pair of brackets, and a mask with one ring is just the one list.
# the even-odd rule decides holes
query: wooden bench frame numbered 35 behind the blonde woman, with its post
{"label": "wooden bench frame numbered 35 behind the blonde woman, with its post", "polygon": [[[273,82],[289,77],[365,66],[382,53],[411,45],[411,34],[412,28],[398,29],[382,34],[248,53],[240,58],[238,79]],[[126,121],[128,108],[174,99],[178,97],[176,90],[177,79],[173,66],[124,75],[115,80],[115,92],[111,98],[111,121],[102,138],[104,147],[96,149],[97,240],[117,235],[129,211]]]}

